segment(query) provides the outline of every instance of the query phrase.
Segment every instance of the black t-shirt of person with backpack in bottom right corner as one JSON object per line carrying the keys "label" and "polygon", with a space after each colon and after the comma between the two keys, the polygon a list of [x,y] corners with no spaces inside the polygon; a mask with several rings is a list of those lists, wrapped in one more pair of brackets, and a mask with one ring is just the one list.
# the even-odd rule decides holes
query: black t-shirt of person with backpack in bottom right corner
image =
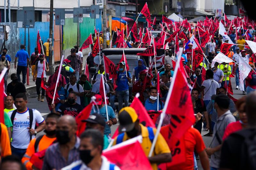
{"label": "black t-shirt of person with backpack in bottom right corner", "polygon": [[244,147],[244,137],[251,136],[255,133],[255,129],[243,129],[235,132],[224,140],[221,147],[220,168],[228,168],[233,170],[253,169],[250,164],[247,148]]}

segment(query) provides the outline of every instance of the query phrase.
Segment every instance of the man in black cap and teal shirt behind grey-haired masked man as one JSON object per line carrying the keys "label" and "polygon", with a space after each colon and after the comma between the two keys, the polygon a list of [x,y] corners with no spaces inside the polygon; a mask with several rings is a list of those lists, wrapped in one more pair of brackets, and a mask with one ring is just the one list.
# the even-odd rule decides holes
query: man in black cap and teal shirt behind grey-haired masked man
{"label": "man in black cap and teal shirt behind grey-haired masked man", "polygon": [[86,122],[86,128],[85,130],[88,129],[97,129],[101,132],[103,135],[103,150],[108,148],[109,142],[111,141],[111,137],[109,135],[104,134],[104,129],[106,126],[106,122],[104,118],[98,114],[94,113],[92,115],[89,115],[88,119],[82,120],[82,122]]}

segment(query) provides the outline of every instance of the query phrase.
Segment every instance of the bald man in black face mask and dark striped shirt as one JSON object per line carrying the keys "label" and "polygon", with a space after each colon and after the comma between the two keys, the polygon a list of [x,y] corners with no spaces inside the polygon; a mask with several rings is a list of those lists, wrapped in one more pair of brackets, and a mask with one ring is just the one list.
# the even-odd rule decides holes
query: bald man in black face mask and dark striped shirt
{"label": "bald man in black face mask and dark striped shirt", "polygon": [[57,143],[45,152],[42,170],[61,169],[80,159],[80,139],[76,136],[76,120],[70,115],[58,119],[56,126]]}

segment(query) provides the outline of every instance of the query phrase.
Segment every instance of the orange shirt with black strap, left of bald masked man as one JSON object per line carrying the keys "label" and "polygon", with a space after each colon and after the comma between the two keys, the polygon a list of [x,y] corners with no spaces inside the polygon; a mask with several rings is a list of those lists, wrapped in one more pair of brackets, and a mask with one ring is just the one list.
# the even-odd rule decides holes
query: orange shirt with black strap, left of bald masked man
{"label": "orange shirt with black strap, left of bald masked man", "polygon": [[[44,135],[38,144],[36,152],[40,152],[40,151],[47,149],[53,143],[53,141],[55,139],[56,139],[56,137],[49,138],[46,135]],[[24,164],[26,166],[27,170],[32,170],[33,164],[29,160],[30,160],[31,156],[35,153],[35,148],[34,148],[35,142],[36,142],[36,138],[34,138],[30,141],[30,143],[28,145],[28,149],[27,149],[25,155],[23,156],[23,158],[21,159],[22,164]]]}

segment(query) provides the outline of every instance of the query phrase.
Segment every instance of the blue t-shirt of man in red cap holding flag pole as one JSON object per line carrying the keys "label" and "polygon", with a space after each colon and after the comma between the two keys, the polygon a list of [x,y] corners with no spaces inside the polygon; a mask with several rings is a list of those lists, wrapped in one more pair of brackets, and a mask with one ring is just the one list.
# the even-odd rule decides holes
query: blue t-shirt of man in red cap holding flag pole
{"label": "blue t-shirt of man in red cap holding flag pole", "polygon": [[[108,108],[108,120],[116,118],[116,115],[115,115],[115,113],[114,113],[113,108],[110,107],[110,106],[107,106],[107,108]],[[93,106],[93,107],[92,107],[91,114],[94,114],[94,113],[97,112],[97,111],[98,111],[98,110],[97,110],[97,107]],[[99,108],[99,112],[100,112],[100,115],[101,115],[103,118],[105,118],[105,122],[108,122],[108,121],[107,121],[107,113],[106,113],[106,107],[105,107],[105,105],[103,105],[103,107]],[[91,114],[90,114],[90,115],[91,115]],[[110,126],[108,126],[108,125],[106,124],[105,129],[104,129],[104,135],[109,135],[109,134],[111,134]]]}

